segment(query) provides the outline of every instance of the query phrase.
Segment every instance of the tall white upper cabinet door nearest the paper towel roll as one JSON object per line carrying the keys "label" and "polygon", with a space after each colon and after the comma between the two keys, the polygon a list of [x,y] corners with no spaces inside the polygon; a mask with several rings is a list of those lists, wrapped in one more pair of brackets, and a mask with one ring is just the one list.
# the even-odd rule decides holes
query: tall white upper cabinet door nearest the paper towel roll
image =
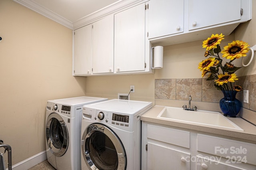
{"label": "tall white upper cabinet door nearest the paper towel roll", "polygon": [[116,72],[145,70],[145,4],[114,15]]}

